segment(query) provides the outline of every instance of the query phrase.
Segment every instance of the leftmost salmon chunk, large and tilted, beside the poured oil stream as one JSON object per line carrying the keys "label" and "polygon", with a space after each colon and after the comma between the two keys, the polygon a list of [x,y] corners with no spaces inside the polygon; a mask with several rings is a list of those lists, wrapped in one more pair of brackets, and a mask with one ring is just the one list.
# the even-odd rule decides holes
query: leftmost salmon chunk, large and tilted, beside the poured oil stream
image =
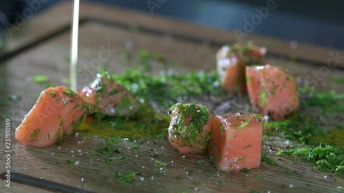
{"label": "leftmost salmon chunk, large and tilted, beside the poured oil stream", "polygon": [[86,112],[87,104],[78,94],[63,86],[47,88],[16,129],[16,139],[33,147],[59,144],[76,131]]}

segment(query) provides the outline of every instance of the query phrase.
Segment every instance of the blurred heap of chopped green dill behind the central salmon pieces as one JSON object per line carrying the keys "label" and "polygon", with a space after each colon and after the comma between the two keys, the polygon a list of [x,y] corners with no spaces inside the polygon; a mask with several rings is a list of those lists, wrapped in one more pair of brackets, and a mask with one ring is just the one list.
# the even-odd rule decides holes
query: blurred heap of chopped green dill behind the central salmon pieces
{"label": "blurred heap of chopped green dill behind the central salmon pieces", "polygon": [[183,98],[195,100],[198,95],[220,95],[216,71],[178,73],[168,71],[164,75],[151,76],[136,69],[127,69],[122,74],[111,74],[141,102],[158,104],[167,109]]}

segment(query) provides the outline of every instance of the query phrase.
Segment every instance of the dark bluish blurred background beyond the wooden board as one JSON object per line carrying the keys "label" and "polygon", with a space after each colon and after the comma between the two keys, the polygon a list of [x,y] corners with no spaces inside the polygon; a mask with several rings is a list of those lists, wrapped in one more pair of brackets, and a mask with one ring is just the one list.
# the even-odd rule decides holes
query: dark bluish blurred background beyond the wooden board
{"label": "dark bluish blurred background beyond the wooden board", "polygon": [[[0,0],[0,11],[12,21],[14,12],[20,12],[28,6],[27,1]],[[61,0],[45,1],[47,3],[41,4],[41,10]],[[149,8],[150,0],[88,1],[141,10],[155,16],[169,16],[223,30],[244,31],[244,19],[250,21],[257,14],[255,8],[266,7],[266,3],[273,0],[151,0],[163,2],[154,9]],[[254,26],[253,34],[344,49],[344,1],[275,0],[275,3],[277,7],[270,10],[259,25]],[[4,21],[1,12],[0,21]]]}

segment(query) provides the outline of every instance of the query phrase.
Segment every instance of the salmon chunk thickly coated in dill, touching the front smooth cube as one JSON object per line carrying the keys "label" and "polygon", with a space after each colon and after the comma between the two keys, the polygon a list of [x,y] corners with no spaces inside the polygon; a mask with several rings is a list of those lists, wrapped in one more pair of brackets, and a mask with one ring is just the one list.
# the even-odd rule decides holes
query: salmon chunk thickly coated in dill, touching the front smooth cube
{"label": "salmon chunk thickly coated in dill, touching the front smooth cube", "polygon": [[206,106],[181,104],[171,106],[169,141],[181,153],[204,153],[211,137],[213,115]]}

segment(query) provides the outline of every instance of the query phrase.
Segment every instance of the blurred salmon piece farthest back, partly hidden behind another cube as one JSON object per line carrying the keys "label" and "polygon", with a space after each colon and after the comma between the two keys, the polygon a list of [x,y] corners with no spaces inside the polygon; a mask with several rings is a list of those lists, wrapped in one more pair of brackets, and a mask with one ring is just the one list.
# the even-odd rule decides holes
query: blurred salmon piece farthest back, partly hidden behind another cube
{"label": "blurred salmon piece farthest back, partly hidden behind another cube", "polygon": [[253,45],[235,44],[224,46],[217,52],[217,73],[225,91],[247,93],[245,80],[246,65],[264,63],[266,49]]}

